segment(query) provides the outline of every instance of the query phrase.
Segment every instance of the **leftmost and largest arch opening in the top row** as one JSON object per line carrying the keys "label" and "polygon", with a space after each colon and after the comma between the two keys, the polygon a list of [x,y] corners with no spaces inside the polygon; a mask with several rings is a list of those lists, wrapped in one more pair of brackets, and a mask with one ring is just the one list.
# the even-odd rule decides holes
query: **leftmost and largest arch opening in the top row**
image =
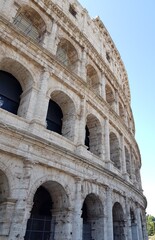
{"label": "leftmost and largest arch opening in the top row", "polygon": [[37,42],[42,42],[46,32],[46,24],[40,14],[30,6],[24,5],[19,8],[13,24],[26,36]]}

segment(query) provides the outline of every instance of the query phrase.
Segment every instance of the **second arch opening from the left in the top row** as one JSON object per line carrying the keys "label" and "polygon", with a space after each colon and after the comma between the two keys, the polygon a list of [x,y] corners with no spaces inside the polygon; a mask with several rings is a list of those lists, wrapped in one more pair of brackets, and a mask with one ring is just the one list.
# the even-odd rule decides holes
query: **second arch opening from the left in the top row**
{"label": "second arch opening from the left in the top row", "polygon": [[77,73],[78,53],[73,44],[65,38],[61,38],[58,43],[57,59],[72,72]]}

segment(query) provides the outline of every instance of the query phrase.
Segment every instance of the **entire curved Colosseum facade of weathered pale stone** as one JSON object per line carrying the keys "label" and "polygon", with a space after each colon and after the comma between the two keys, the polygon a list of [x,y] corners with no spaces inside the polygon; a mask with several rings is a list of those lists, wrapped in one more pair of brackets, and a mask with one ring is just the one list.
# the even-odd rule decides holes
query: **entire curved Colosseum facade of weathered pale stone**
{"label": "entire curved Colosseum facade of weathered pale stone", "polygon": [[128,77],[76,0],[0,3],[0,239],[146,240]]}

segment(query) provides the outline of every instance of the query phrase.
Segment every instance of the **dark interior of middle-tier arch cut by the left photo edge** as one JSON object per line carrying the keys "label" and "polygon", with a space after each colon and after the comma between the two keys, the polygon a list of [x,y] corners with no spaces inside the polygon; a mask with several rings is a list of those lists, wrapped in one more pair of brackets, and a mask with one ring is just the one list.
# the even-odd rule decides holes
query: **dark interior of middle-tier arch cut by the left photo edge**
{"label": "dark interior of middle-tier arch cut by the left photo edge", "polygon": [[0,70],[0,107],[17,114],[22,88],[10,73]]}

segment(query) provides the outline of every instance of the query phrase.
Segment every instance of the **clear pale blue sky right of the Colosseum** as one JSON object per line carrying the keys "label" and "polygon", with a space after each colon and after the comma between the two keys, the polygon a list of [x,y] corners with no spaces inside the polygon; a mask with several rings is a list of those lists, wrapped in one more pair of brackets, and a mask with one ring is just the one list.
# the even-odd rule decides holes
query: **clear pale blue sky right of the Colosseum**
{"label": "clear pale blue sky right of the Colosseum", "polygon": [[155,216],[155,0],[80,0],[100,16],[125,64],[147,213]]}

